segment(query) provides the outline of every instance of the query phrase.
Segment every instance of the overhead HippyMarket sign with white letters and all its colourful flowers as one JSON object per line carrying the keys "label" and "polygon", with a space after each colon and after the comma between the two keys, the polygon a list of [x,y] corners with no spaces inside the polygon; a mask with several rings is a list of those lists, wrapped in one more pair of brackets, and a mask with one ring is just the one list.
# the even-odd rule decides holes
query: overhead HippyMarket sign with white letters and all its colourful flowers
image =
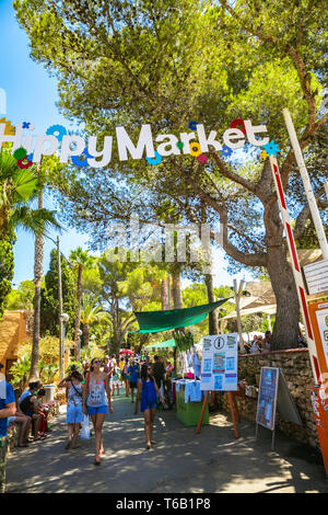
{"label": "overhead HippyMarket sign with white letters and all its colourful flowers", "polygon": [[[34,125],[23,122],[15,126],[14,134],[9,134],[5,123],[2,122],[5,121],[0,121],[0,148],[3,144],[12,144],[14,156],[22,161],[21,168],[28,168],[40,162],[42,156],[52,156],[56,152],[60,163],[67,163],[71,159],[79,167],[104,168],[112,161],[113,136],[104,136],[103,148],[99,149],[96,136],[90,136],[86,142],[82,136],[69,135],[62,125],[50,126],[45,135],[34,135]],[[223,145],[216,139],[216,130],[210,130],[207,135],[202,124],[190,122],[189,129],[191,131],[180,133],[178,137],[174,134],[160,134],[154,137],[151,125],[143,124],[134,145],[125,127],[116,127],[116,157],[119,161],[144,158],[149,164],[156,165],[165,157],[190,154],[199,162],[206,163],[206,153],[210,148],[223,157],[229,157],[233,150],[243,148],[247,142],[263,148],[260,153],[262,159],[279,152],[279,146],[273,140],[270,141],[268,136],[262,137],[263,133],[268,131],[266,125],[254,126],[250,119],[234,119],[222,136]],[[19,150],[20,154],[16,154]]]}

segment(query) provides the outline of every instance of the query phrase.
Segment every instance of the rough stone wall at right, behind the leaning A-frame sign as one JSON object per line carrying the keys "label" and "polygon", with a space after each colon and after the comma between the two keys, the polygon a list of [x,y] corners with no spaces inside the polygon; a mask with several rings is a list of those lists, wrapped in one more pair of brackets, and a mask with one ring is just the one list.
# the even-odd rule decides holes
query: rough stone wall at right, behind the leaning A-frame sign
{"label": "rough stone wall at right, behind the leaning A-frame sign", "polygon": [[[263,366],[279,367],[283,371],[286,385],[297,408],[303,426],[285,422],[277,413],[276,427],[293,436],[296,440],[319,447],[315,416],[311,403],[311,387],[314,385],[307,348],[276,351],[268,354],[247,354],[238,358],[238,380],[258,386],[260,369]],[[257,398],[237,398],[242,417],[256,420]],[[223,396],[223,409],[229,411],[226,394]]]}

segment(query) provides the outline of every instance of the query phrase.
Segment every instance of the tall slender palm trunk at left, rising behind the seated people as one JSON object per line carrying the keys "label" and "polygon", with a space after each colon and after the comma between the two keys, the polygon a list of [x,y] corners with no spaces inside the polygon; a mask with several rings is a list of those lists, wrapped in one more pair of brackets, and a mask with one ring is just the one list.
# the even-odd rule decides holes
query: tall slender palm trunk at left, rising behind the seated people
{"label": "tall slender palm trunk at left, rising behind the seated people", "polygon": [[[38,194],[38,208],[44,207],[44,192]],[[44,234],[35,237],[34,245],[34,317],[33,317],[33,344],[32,344],[32,359],[30,380],[39,378],[38,362],[39,362],[39,327],[40,327],[40,283],[43,278],[43,262],[44,262]]]}

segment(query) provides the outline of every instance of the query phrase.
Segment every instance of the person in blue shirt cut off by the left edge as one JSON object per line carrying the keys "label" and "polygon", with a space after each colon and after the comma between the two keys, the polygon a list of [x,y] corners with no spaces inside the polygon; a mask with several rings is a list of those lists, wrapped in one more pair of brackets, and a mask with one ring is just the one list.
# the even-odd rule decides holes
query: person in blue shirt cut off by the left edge
{"label": "person in blue shirt cut off by the left edge", "polygon": [[5,491],[5,460],[7,460],[7,428],[8,417],[14,416],[16,412],[15,394],[13,387],[5,381],[1,374],[3,367],[0,363],[0,493]]}

